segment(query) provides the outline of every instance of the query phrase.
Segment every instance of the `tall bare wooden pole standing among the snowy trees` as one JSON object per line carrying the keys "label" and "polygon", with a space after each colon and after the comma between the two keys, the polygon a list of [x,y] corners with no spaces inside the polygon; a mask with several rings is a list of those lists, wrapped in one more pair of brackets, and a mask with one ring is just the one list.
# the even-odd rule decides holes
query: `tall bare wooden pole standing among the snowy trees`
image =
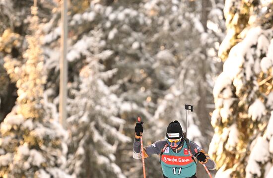
{"label": "tall bare wooden pole standing among the snowy trees", "polygon": [[60,123],[66,127],[67,119],[67,83],[68,83],[68,61],[67,61],[67,37],[68,37],[68,8],[67,0],[61,0],[62,5],[62,34],[61,34],[61,60],[60,60]]}

